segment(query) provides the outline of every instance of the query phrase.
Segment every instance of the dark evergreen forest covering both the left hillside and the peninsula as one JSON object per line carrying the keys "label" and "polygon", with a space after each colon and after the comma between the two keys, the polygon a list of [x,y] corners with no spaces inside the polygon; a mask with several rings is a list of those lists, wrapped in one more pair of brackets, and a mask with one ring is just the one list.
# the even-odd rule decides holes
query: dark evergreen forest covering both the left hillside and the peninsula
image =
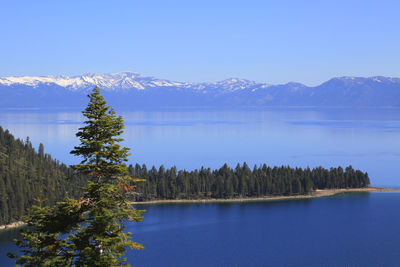
{"label": "dark evergreen forest covering both the left hillside and the peninsula", "polygon": [[[325,169],[270,167],[246,164],[220,169],[178,170],[164,166],[147,169],[130,165],[129,175],[144,179],[129,192],[133,202],[159,200],[250,199],[274,196],[305,196],[319,189],[365,188],[367,173],[351,166]],[[69,196],[79,198],[86,178],[44,153],[27,138],[16,139],[0,127],[0,225],[22,219],[38,200],[44,204]],[[133,186],[133,185],[132,185]]]}

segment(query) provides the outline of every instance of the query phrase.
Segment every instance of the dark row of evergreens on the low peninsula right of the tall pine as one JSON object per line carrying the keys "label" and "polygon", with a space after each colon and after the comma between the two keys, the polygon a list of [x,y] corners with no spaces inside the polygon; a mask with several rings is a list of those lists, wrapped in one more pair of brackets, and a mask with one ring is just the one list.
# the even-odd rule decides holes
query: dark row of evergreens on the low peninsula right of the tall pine
{"label": "dark row of evergreens on the low peninsula right of the tall pine", "polygon": [[288,166],[255,166],[246,163],[235,169],[226,164],[218,170],[178,171],[175,167],[157,170],[136,164],[129,166],[130,175],[147,179],[138,183],[134,200],[245,198],[271,195],[310,194],[316,189],[359,188],[370,184],[367,173],[351,166],[329,170]]}

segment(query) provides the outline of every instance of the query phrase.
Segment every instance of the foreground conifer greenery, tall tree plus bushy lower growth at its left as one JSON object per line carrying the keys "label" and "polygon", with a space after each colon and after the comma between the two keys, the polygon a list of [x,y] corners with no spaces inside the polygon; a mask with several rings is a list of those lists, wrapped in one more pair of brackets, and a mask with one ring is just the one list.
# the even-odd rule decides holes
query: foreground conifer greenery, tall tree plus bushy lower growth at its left
{"label": "foreground conifer greenery, tall tree plus bushy lower growth at its left", "polygon": [[128,148],[117,138],[123,120],[106,106],[96,87],[83,115],[88,119],[76,134],[81,144],[71,152],[83,158],[72,168],[88,175],[79,199],[66,198],[53,208],[34,206],[27,218],[29,228],[17,245],[25,266],[121,266],[127,248],[141,249],[125,233],[127,221],[139,222],[143,211],[132,208],[126,197],[137,180],[127,176]]}

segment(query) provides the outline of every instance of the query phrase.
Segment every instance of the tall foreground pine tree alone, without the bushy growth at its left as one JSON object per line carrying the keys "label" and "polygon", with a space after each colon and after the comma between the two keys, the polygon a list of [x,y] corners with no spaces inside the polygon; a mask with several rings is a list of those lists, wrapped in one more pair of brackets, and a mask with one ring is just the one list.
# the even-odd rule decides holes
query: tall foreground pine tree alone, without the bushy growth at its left
{"label": "tall foreground pine tree alone, without the bushy growth at its left", "polygon": [[126,247],[142,248],[130,240],[124,232],[127,220],[140,221],[142,211],[129,205],[126,193],[133,189],[127,176],[128,148],[118,144],[123,132],[122,117],[106,106],[96,87],[89,95],[90,101],[83,115],[88,118],[86,126],[76,134],[81,144],[72,154],[82,156],[80,164],[73,166],[81,174],[90,177],[87,190],[81,200],[87,214],[85,226],[74,235],[76,248],[80,250],[76,264],[81,266],[117,266]]}

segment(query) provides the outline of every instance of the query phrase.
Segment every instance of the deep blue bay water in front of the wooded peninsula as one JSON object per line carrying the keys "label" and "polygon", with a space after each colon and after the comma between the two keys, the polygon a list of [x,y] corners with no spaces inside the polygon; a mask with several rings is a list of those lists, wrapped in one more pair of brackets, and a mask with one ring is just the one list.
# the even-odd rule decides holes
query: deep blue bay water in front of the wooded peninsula
{"label": "deep blue bay water in front of the wooded peninsula", "polygon": [[[399,266],[400,193],[162,204],[128,230],[133,266]],[[1,266],[13,232],[0,233]],[[4,241],[6,239],[6,241]]]}

